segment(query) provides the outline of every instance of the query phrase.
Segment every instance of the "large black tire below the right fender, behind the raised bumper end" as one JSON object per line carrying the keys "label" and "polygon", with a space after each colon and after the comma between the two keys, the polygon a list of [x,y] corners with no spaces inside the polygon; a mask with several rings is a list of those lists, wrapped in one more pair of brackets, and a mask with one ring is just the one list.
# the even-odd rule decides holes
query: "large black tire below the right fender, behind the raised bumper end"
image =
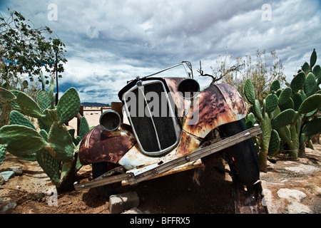
{"label": "large black tire below the right fender, behind the raised bumper end", "polygon": [[[243,130],[247,130],[247,128],[243,120],[238,120],[220,126],[219,130],[222,137],[229,137]],[[252,139],[229,147],[225,157],[227,157],[232,176],[236,177],[240,182],[248,185],[254,184],[260,179],[258,153],[256,152]],[[235,162],[235,164],[233,162]]]}

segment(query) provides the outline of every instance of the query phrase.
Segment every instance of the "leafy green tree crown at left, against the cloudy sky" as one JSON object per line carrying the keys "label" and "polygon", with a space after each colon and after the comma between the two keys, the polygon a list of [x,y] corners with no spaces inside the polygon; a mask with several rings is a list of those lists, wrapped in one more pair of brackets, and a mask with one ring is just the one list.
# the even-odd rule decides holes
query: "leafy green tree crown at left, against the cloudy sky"
{"label": "leafy green tree crown at left, against the cloudy sky", "polygon": [[43,69],[62,73],[67,60],[64,56],[66,46],[60,38],[49,27],[34,28],[19,12],[10,9],[8,12],[8,18],[0,14],[0,82],[14,88],[16,78],[22,74],[34,81],[34,76],[39,78]]}

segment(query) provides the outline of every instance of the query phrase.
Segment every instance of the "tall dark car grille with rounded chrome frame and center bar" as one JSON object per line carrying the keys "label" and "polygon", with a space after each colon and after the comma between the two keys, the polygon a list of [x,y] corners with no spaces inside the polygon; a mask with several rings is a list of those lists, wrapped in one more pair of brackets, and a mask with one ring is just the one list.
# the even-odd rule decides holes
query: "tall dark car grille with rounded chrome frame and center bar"
{"label": "tall dark car grille with rounded chrome frame and center bar", "polygon": [[162,81],[138,81],[123,95],[133,132],[146,155],[163,155],[178,143],[179,130]]}

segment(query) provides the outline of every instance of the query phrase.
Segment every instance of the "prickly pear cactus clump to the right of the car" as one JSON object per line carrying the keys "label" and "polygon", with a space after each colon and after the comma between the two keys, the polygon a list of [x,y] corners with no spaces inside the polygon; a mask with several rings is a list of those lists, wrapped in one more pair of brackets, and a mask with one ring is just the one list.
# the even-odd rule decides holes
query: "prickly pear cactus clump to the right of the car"
{"label": "prickly pear cactus clump to the right of the car", "polygon": [[[260,102],[255,100],[253,84],[249,79],[245,81],[245,97],[253,105],[250,108],[252,111],[250,114],[255,115],[261,129],[267,129],[265,112],[268,113],[270,119],[272,128],[267,155],[280,151],[277,150],[276,145],[280,145],[280,140],[282,140],[287,146],[284,151],[288,151],[293,159],[297,159],[298,155],[304,156],[305,143],[310,141],[310,137],[321,132],[321,120],[316,118],[321,108],[319,86],[321,67],[315,65],[316,63],[317,53],[314,49],[310,57],[310,64],[305,62],[297,75],[292,78],[291,83],[286,83],[286,88],[280,87],[280,81],[272,82],[270,94],[263,100],[263,108],[260,107]],[[247,121],[250,124],[253,118],[251,122],[250,118],[247,118]],[[265,153],[267,140],[263,139],[263,135],[267,135],[268,138],[269,134],[263,132],[260,138],[260,152]],[[261,159],[260,165],[264,167],[263,162]]]}

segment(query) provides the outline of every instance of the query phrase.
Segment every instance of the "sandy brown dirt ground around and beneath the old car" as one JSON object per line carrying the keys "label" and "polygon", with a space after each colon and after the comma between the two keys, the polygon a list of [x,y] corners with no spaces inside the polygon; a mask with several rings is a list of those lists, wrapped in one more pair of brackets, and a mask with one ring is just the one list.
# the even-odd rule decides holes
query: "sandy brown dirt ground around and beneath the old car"
{"label": "sandy brown dirt ground around and beneath the old car", "polygon": [[[213,162],[198,172],[188,170],[118,190],[136,191],[140,199],[138,209],[151,214],[234,214],[233,182],[228,172],[218,168],[218,163]],[[286,169],[300,165],[314,169],[302,173]],[[21,160],[7,153],[0,172],[10,166],[22,167],[23,174],[9,179],[0,189],[0,198],[16,202],[13,209],[4,212],[6,214],[110,214],[108,198],[98,195],[95,189],[71,189],[57,195],[54,185],[37,162]],[[225,168],[228,170],[228,165],[225,164]],[[307,149],[307,157],[297,162],[286,157],[268,162],[268,172],[261,173],[260,180],[269,212],[283,212],[291,201],[278,197],[277,191],[290,188],[304,192],[307,197],[300,203],[310,207],[312,214],[320,214],[320,171],[321,145],[315,145],[315,150]],[[197,177],[198,182],[193,177]],[[77,172],[75,181],[90,180],[91,166],[83,166]]]}

